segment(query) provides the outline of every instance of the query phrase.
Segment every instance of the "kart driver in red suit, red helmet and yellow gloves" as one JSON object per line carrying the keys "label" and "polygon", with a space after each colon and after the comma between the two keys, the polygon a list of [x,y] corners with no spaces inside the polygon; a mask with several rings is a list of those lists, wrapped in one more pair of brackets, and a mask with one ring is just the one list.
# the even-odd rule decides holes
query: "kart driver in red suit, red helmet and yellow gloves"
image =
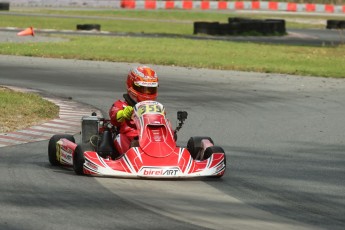
{"label": "kart driver in red suit, red helmet and yellow gloves", "polygon": [[158,77],[156,72],[148,66],[138,66],[129,71],[126,82],[127,93],[124,100],[117,100],[109,110],[110,122],[117,127],[118,135],[114,146],[120,154],[135,145],[138,132],[131,119],[133,106],[137,102],[156,100]]}

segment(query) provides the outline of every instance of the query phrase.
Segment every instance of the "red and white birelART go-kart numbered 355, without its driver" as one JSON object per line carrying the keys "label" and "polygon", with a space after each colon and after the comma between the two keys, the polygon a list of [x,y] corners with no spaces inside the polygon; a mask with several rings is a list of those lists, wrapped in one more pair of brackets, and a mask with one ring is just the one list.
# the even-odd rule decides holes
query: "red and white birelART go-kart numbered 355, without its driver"
{"label": "red and white birelART go-kart numbered 355, without its driver", "polygon": [[[134,106],[138,136],[121,152],[119,132],[96,114],[82,118],[81,143],[72,135],[54,135],[48,144],[52,165],[73,167],[76,174],[114,177],[189,178],[222,177],[226,169],[224,150],[210,137],[191,137],[186,147],[176,146],[177,132],[187,119],[178,111],[175,130],[156,101]],[[123,138],[122,138],[123,139]],[[128,140],[125,140],[128,142]]]}

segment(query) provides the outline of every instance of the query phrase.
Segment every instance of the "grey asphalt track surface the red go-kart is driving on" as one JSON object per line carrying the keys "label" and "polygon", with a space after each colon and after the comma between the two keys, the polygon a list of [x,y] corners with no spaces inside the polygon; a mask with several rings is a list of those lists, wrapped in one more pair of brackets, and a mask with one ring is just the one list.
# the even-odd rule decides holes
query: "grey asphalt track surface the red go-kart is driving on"
{"label": "grey asphalt track surface the red go-kart is driving on", "polygon": [[[0,84],[72,97],[106,114],[136,64],[0,56]],[[76,176],[47,141],[0,148],[0,229],[343,229],[343,79],[154,67],[179,144],[208,135],[221,179]],[[77,136],[78,138],[78,136]]]}

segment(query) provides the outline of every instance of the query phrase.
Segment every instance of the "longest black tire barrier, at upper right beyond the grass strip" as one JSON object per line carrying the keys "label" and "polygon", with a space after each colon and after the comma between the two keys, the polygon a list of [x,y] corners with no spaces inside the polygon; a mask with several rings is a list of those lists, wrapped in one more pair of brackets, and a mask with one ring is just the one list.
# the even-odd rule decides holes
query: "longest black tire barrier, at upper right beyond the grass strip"
{"label": "longest black tire barrier, at upper right beyond the grass strip", "polygon": [[228,18],[228,23],[194,22],[194,34],[208,35],[285,35],[285,20]]}

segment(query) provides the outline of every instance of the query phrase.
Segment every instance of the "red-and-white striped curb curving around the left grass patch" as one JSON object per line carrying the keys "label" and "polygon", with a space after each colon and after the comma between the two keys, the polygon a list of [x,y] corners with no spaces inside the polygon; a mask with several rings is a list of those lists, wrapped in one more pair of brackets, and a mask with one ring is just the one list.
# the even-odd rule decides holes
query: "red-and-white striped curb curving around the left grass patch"
{"label": "red-and-white striped curb curving around the left grass patch", "polygon": [[[7,86],[6,86],[7,87]],[[18,88],[7,87],[18,90]],[[23,91],[23,89],[19,89]],[[25,92],[37,92],[24,90]],[[50,139],[55,134],[77,134],[81,131],[81,118],[89,116],[92,112],[102,115],[100,110],[69,99],[42,97],[59,106],[59,117],[45,123],[34,125],[22,130],[0,133],[0,148],[30,142]]]}

